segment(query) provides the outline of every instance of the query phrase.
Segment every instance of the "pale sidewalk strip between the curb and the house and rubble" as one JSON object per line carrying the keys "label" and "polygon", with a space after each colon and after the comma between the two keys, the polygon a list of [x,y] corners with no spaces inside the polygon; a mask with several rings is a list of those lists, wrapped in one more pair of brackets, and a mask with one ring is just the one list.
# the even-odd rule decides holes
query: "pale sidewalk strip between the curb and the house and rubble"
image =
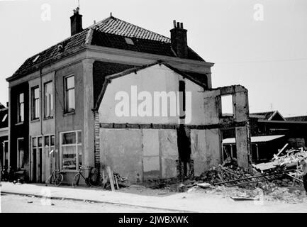
{"label": "pale sidewalk strip between the curb and the house and rubble", "polygon": [[233,201],[230,198],[206,193],[178,193],[169,196],[144,196],[101,189],[78,189],[71,187],[45,187],[38,184],[13,184],[1,182],[1,192],[10,194],[46,196],[50,199],[72,199],[109,204],[143,206],[167,209],[174,212],[307,212],[307,204],[286,204],[264,201]]}

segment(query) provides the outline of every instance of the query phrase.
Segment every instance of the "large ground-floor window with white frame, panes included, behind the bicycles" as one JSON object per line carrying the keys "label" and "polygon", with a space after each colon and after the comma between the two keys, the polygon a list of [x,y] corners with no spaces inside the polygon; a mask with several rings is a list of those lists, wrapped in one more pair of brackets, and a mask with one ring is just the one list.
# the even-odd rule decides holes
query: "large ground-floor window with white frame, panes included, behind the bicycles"
{"label": "large ground-floor window with white frame, panes included, behind the bicycles", "polygon": [[62,168],[78,170],[82,165],[81,131],[61,133]]}

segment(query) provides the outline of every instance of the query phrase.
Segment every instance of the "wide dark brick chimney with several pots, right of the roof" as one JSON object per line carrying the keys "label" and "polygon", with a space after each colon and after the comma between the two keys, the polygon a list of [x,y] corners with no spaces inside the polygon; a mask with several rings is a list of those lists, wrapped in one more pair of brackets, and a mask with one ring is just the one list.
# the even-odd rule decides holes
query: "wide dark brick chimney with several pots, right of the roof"
{"label": "wide dark brick chimney with several pots, right of the roof", "polygon": [[188,57],[188,42],[184,24],[174,21],[174,28],[172,28],[170,32],[172,48],[177,53],[178,57]]}

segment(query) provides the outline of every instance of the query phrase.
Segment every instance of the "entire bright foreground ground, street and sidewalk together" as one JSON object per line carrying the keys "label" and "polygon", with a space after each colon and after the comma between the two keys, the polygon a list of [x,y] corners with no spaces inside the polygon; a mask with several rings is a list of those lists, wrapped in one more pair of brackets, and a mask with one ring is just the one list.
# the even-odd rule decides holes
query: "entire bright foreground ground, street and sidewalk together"
{"label": "entire bright foreground ground, street and sidewalk together", "polygon": [[[101,189],[45,187],[41,184],[1,184],[1,193],[6,194],[1,196],[3,212],[307,212],[306,202],[234,201],[229,196],[211,194],[206,190],[148,196]],[[41,199],[46,196],[52,200]]]}

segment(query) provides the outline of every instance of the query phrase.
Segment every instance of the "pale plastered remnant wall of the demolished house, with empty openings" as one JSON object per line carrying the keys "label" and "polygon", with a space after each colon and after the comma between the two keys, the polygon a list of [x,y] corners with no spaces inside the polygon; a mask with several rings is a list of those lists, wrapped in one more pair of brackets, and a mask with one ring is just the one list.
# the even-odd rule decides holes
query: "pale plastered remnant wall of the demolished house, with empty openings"
{"label": "pale plastered remnant wall of the demolished house, with empty openings", "polygon": [[[114,172],[127,176],[131,182],[201,175],[213,165],[222,162],[221,130],[235,128],[238,163],[248,169],[250,129],[247,89],[235,85],[203,91],[196,88],[199,85],[189,84],[186,79],[186,88],[194,91],[192,96],[196,94],[196,98],[192,99],[192,111],[197,111],[197,114],[192,113],[192,121],[182,125],[190,142],[182,148],[181,127],[174,118],[163,118],[160,122],[155,118],[155,122],[152,122],[148,121],[151,118],[147,117],[139,117],[139,120],[133,117],[131,121],[125,117],[125,123],[120,118],[116,121],[112,106],[113,89],[116,89],[116,84],[119,84],[121,90],[128,90],[131,85],[140,82],[141,91],[162,88],[169,92],[167,89],[179,87],[180,76],[163,66],[143,71],[143,74],[141,71],[133,72],[125,77],[116,78],[106,89],[99,108],[99,119],[96,119],[99,120],[99,124],[95,124],[95,127],[99,125],[100,135],[95,133],[96,142],[99,141],[96,143],[96,147],[99,146],[96,149],[99,155],[96,153],[95,157],[99,157],[101,164],[111,166]],[[155,78],[150,72],[155,72]],[[159,77],[162,79],[157,79]],[[155,82],[150,83],[152,79],[155,79]],[[234,114],[222,116],[221,96],[228,94],[233,96]]]}

